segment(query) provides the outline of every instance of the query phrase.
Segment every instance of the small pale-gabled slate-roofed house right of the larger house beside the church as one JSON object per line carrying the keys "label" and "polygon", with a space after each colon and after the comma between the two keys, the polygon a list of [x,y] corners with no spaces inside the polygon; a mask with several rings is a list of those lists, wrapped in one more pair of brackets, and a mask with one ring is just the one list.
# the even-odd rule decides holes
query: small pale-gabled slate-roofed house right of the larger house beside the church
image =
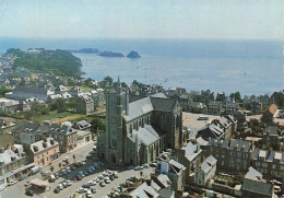
{"label": "small pale-gabled slate-roofed house right of the larger house beside the church", "polygon": [[194,183],[200,186],[206,186],[208,182],[213,178],[216,173],[217,160],[210,155],[194,171]]}

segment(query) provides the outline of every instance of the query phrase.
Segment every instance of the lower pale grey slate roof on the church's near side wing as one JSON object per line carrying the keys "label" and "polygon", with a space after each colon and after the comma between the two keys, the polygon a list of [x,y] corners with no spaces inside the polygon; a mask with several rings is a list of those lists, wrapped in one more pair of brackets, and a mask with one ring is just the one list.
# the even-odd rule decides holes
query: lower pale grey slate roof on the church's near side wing
{"label": "lower pale grey slate roof on the church's near side wing", "polygon": [[139,143],[142,142],[145,145],[151,145],[159,139],[159,136],[151,125],[145,125],[144,127],[140,127],[139,130],[134,130],[130,133],[129,138],[134,142],[138,138]]}

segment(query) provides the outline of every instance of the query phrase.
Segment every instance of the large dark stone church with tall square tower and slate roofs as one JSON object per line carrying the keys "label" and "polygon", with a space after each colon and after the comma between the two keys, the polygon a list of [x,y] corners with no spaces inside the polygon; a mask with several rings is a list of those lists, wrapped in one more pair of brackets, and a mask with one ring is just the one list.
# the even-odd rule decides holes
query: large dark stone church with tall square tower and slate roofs
{"label": "large dark stone church with tall square tower and slate roofs", "polygon": [[106,131],[97,132],[98,156],[116,165],[150,163],[166,149],[187,142],[178,101],[158,93],[129,103],[118,78],[106,92]]}

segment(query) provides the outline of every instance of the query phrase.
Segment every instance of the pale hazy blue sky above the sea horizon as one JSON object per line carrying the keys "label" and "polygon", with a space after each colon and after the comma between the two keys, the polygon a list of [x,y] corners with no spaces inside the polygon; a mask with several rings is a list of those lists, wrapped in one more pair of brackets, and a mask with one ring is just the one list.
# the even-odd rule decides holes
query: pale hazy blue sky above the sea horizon
{"label": "pale hazy blue sky above the sea horizon", "polygon": [[0,0],[0,36],[282,39],[282,0]]}

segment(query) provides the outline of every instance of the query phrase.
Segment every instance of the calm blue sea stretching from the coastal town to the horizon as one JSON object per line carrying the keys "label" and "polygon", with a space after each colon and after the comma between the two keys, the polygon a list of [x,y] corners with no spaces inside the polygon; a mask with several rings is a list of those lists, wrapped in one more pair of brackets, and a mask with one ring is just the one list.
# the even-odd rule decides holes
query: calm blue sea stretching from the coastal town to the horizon
{"label": "calm blue sea stretching from the coastal town to the horizon", "polygon": [[125,56],[135,50],[141,56],[129,59],[73,53],[82,60],[83,77],[99,81],[106,75],[116,81],[119,75],[126,83],[138,80],[165,89],[239,91],[242,96],[284,90],[282,40],[0,38],[0,54],[35,47],[97,48]]}

